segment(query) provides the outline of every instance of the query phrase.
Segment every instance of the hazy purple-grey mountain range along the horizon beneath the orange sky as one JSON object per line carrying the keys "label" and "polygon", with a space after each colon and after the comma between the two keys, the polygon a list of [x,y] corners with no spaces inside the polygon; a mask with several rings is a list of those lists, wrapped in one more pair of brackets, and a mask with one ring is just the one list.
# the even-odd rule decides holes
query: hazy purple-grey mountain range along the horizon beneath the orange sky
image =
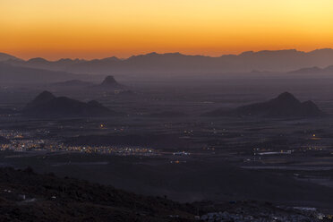
{"label": "hazy purple-grey mountain range along the horizon beneath the orange sky", "polygon": [[290,72],[304,67],[326,67],[333,64],[333,49],[317,49],[302,52],[295,49],[277,51],[244,52],[239,55],[210,57],[182,55],[180,53],[133,55],[127,59],[108,57],[81,60],[43,58],[20,60],[11,55],[0,56],[6,64],[47,69],[70,73],[223,73],[223,72]]}

